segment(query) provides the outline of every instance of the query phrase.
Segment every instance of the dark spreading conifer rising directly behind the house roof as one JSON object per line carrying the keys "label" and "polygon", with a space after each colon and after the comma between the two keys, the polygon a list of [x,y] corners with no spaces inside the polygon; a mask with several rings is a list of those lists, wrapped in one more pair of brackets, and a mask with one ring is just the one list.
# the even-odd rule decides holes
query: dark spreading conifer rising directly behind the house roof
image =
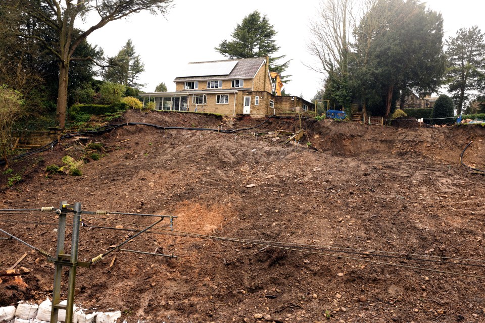
{"label": "dark spreading conifer rising directly behind the house roof", "polygon": [[[214,49],[231,60],[269,56],[270,71],[281,75],[288,68],[289,61],[282,64],[276,63],[286,56],[273,56],[280,48],[273,39],[277,33],[273,27],[266,15],[261,16],[256,10],[244,17],[240,24],[237,24],[231,34],[232,40],[225,39],[219,44],[219,47]],[[281,80],[288,82],[289,76],[291,75],[281,75]]]}

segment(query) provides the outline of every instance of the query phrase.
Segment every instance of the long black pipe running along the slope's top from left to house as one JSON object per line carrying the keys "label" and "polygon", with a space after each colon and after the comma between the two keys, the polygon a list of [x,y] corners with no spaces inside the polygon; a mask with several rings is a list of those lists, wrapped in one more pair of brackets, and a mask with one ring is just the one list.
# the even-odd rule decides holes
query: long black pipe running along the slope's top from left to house
{"label": "long black pipe running along the slope's top from left to house", "polygon": [[[23,157],[27,157],[27,156],[30,156],[30,155],[33,155],[33,154],[41,153],[41,152],[44,152],[46,150],[52,149],[52,148],[54,148],[54,146],[56,146],[59,143],[59,141],[61,139],[68,139],[68,138],[72,138],[72,137],[79,136],[79,135],[100,135],[100,134],[104,134],[106,132],[115,130],[115,129],[120,128],[120,127],[125,127],[125,126],[141,125],[141,126],[153,127],[153,128],[160,129],[160,130],[180,129],[180,130],[196,130],[196,131],[217,131],[217,132],[220,132],[220,133],[236,133],[236,132],[239,132],[239,131],[252,130],[252,129],[259,128],[262,125],[264,125],[265,123],[267,123],[274,116],[276,116],[276,115],[270,116],[264,122],[262,122],[261,124],[259,124],[257,126],[254,126],[254,127],[242,128],[242,129],[227,129],[227,130],[213,129],[213,128],[166,127],[166,126],[154,125],[154,124],[151,124],[151,123],[143,123],[143,122],[127,122],[127,123],[122,123],[122,124],[118,124],[118,125],[106,125],[106,126],[99,127],[99,128],[96,128],[96,129],[90,130],[90,131],[78,131],[78,132],[70,133],[68,135],[64,135],[64,136],[60,137],[59,139],[56,139],[56,140],[54,140],[54,141],[52,141],[52,142],[50,142],[50,143],[48,143],[48,144],[46,144],[42,147],[39,147],[37,149],[25,152],[25,153],[17,155],[17,156],[14,156],[10,160],[20,159],[20,158],[23,158]],[[5,160],[0,161],[0,166],[4,165],[4,164],[5,164]]]}

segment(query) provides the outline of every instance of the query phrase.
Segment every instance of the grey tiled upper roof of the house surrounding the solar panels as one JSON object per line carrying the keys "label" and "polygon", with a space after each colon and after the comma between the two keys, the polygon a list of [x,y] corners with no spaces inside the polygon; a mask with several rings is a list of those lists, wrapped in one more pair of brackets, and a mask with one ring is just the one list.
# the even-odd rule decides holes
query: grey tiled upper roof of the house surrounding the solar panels
{"label": "grey tiled upper roof of the house surrounding the solar panels", "polygon": [[211,61],[211,62],[194,62],[189,64],[204,64],[204,63],[217,63],[217,62],[229,62],[237,61],[236,66],[232,69],[229,75],[211,75],[211,76],[193,76],[193,77],[176,77],[174,82],[179,81],[204,81],[204,80],[221,80],[221,79],[251,79],[258,72],[259,67],[266,61],[264,57],[250,58],[250,59],[237,59],[237,60],[223,60],[223,61]]}

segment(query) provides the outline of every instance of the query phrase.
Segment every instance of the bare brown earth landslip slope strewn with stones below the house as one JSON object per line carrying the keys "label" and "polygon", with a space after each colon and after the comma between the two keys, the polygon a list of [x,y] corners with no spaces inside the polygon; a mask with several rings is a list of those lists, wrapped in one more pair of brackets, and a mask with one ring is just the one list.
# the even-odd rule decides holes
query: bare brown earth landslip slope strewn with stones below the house
{"label": "bare brown earth landslip slope strewn with stones below the house", "polygon": [[[262,121],[129,111],[120,123],[236,129]],[[300,124],[300,143],[275,133]],[[16,161],[1,175],[0,208],[65,200],[177,216],[173,231],[165,220],[125,245],[177,258],[115,251],[78,269],[76,304],[121,310],[128,322],[485,322],[485,279],[470,277],[485,276],[485,176],[459,164],[470,141],[464,163],[485,169],[479,125],[403,129],[286,117],[230,134],[125,126]],[[106,152],[82,176],[46,176],[47,166],[80,158],[89,142]],[[22,182],[8,187],[17,173]],[[0,214],[0,228],[51,254],[57,221],[52,212]],[[135,233],[90,226],[141,230],[155,222],[115,214],[82,221],[82,261]],[[0,270],[24,253],[18,267],[30,270],[25,290],[0,284],[0,306],[52,296],[52,263],[14,240],[0,240],[0,250]]]}

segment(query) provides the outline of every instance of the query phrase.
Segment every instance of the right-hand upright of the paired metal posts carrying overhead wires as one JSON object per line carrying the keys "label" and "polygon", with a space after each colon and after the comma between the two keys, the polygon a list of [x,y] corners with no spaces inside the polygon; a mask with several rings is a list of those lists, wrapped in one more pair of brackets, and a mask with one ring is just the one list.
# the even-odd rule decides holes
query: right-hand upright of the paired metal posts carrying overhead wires
{"label": "right-hand upright of the paired metal posts carrying overhead wires", "polygon": [[79,246],[79,226],[81,223],[81,203],[74,203],[72,220],[71,267],[69,268],[69,283],[67,287],[66,323],[73,321],[74,289],[76,287],[77,251]]}

